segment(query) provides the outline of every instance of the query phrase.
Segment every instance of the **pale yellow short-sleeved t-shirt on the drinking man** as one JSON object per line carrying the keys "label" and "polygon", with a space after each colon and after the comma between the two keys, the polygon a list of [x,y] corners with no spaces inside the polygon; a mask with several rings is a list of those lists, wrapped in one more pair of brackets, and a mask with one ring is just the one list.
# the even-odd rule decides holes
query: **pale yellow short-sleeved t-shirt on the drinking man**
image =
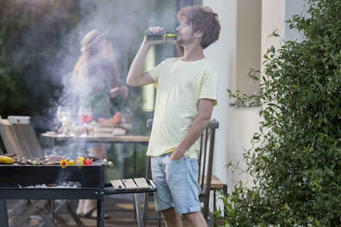
{"label": "pale yellow short-sleeved t-shirt on the drinking man", "polygon": [[[168,58],[148,71],[157,84],[154,120],[148,145],[148,156],[172,152],[184,138],[198,116],[199,100],[217,100],[218,75],[204,58],[184,62]],[[198,158],[198,140],[184,153]]]}

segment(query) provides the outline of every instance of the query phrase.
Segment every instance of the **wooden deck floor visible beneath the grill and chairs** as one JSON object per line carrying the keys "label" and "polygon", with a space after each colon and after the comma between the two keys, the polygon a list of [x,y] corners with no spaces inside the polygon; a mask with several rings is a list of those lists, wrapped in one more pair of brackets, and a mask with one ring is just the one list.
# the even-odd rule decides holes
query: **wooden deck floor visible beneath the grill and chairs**
{"label": "wooden deck floor visible beneath the grill and chairs", "polygon": [[[7,200],[7,206],[10,208],[15,203],[15,200]],[[56,201],[58,203],[58,201]],[[73,208],[76,210],[77,208],[77,200],[73,201]],[[156,215],[155,207],[153,205],[149,206],[150,215]],[[18,210],[18,214],[20,214],[20,210]],[[109,219],[105,219],[105,226],[106,227],[116,227],[116,226],[127,226],[127,227],[133,227],[137,226],[137,220],[134,219],[134,212],[133,212],[133,203],[132,203],[132,197],[131,198],[110,198],[105,197],[105,215],[110,216]],[[35,218],[39,218],[34,216]],[[67,214],[67,211],[62,212],[61,217],[67,222],[68,226],[77,226],[75,221]],[[85,226],[96,226],[96,220],[95,219],[85,219],[80,217],[82,222],[85,224]],[[39,219],[31,219],[28,224],[25,226],[40,226],[41,221]],[[55,221],[56,226],[62,226],[61,224],[58,224],[57,221]],[[147,222],[147,226],[155,227],[158,226],[157,221],[149,221]],[[165,226],[164,221],[161,221],[161,226]],[[189,226],[188,222],[184,221],[184,226]],[[64,226],[62,226],[64,227]]]}

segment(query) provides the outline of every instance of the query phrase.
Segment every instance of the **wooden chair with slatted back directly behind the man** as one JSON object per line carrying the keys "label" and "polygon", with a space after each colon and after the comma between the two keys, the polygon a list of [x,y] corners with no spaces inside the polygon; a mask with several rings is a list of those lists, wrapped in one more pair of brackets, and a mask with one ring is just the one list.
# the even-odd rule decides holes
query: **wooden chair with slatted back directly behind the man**
{"label": "wooden chair with slatted back directly behind the man", "polygon": [[[147,120],[147,127],[149,127],[150,132],[152,130],[152,119]],[[199,175],[205,176],[204,178],[199,176],[198,182],[200,184],[200,195],[199,200],[203,203],[202,214],[204,218],[210,222],[209,219],[209,196],[211,191],[211,179],[212,179],[212,167],[213,167],[213,151],[214,151],[214,138],[216,134],[216,129],[219,127],[219,122],[216,120],[211,120],[209,125],[202,136],[200,136],[200,151],[198,154],[198,164],[199,164]],[[147,172],[146,179],[151,179],[152,173],[150,169],[150,157],[147,160]],[[148,203],[154,201],[154,196],[152,193],[146,193],[143,204],[143,224],[146,226],[147,219],[157,219],[161,220],[161,215],[150,216],[148,215]],[[160,222],[159,222],[160,225]]]}

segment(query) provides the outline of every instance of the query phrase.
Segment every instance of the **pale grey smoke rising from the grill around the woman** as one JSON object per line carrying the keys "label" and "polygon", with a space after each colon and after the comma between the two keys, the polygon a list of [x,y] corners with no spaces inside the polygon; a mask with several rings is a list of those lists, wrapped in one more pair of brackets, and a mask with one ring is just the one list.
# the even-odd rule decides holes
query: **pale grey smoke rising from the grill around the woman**
{"label": "pale grey smoke rising from the grill around the woman", "polygon": [[[33,116],[35,127],[49,127],[49,129],[59,127],[61,124],[56,118],[58,106],[68,106],[71,109],[72,121],[76,122],[76,125],[82,124],[77,116],[80,107],[80,94],[71,83],[71,78],[73,67],[82,54],[80,41],[89,31],[96,29],[100,33],[107,33],[107,37],[112,42],[114,58],[120,75],[120,84],[126,86],[125,78],[130,62],[132,62],[143,41],[144,30],[148,29],[149,26],[164,26],[165,30],[175,30],[174,6],[173,1],[159,3],[152,0],[80,0],[78,6],[80,8],[80,21],[78,21],[77,26],[60,39],[59,53],[54,59],[47,62],[43,70],[39,72],[44,74],[43,79],[40,78],[40,80],[47,80],[49,84],[60,87],[60,89],[51,91],[50,87],[41,87],[37,83],[37,78],[26,78],[26,82],[30,89],[35,92],[35,96],[44,96],[44,93],[53,92],[53,97],[58,97],[48,100],[49,109]],[[49,40],[51,37],[44,37],[44,31],[54,29],[51,26],[58,24],[58,14],[60,13],[56,10],[51,15],[46,15],[46,19],[47,17],[53,18],[55,23],[35,28],[29,33],[40,33],[40,39]],[[39,45],[39,42],[35,42],[35,45]],[[173,46],[171,44],[162,45],[158,47],[161,58],[173,57]],[[21,59],[25,54],[24,51],[20,51],[17,55],[18,59]],[[98,100],[98,105],[104,107],[107,105],[107,100]],[[127,100],[123,103],[123,106],[125,105],[128,105]],[[114,106],[112,110],[120,110],[120,107]],[[84,155],[85,147],[86,145],[80,144],[79,141],[69,140],[63,147],[54,147],[49,150],[49,154],[63,154],[67,150],[73,152],[74,158]],[[132,152],[128,152],[125,156],[131,154]]]}

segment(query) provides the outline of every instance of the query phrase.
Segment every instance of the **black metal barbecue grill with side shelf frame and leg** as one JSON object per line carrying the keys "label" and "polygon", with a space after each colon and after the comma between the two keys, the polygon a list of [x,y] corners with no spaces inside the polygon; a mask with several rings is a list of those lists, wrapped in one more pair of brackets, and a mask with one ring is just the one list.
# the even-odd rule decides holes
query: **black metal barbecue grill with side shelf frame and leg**
{"label": "black metal barbecue grill with side shelf frame and leg", "polygon": [[[80,167],[80,168],[79,168]],[[110,194],[154,192],[141,190],[114,190],[105,183],[105,164],[101,160],[91,165],[0,165],[0,199],[96,199],[97,226],[104,226],[104,199]],[[80,183],[80,188],[26,188],[35,185],[60,185],[61,182]],[[1,207],[0,207],[1,210]],[[1,212],[0,212],[1,213]]]}

